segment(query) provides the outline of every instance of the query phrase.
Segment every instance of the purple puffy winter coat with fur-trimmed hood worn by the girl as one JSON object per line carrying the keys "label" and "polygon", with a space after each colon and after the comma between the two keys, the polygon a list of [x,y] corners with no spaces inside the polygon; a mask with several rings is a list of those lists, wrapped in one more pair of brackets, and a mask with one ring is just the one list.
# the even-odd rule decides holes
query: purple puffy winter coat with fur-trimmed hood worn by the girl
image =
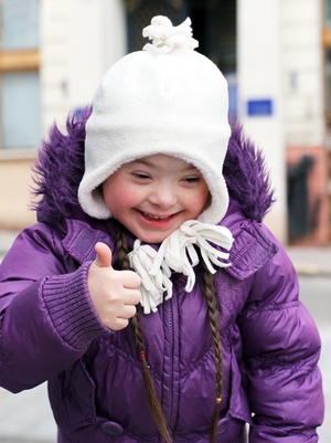
{"label": "purple puffy winter coat with fur-trimmed hood worn by the girl", "polygon": [[[52,129],[36,165],[39,223],[0,266],[0,386],[19,392],[49,380],[60,443],[157,443],[131,328],[105,328],[88,294],[94,245],[114,251],[115,234],[111,219],[92,219],[77,202],[87,117],[68,120],[67,135]],[[224,365],[218,441],[235,442],[247,422],[252,443],[317,442],[320,338],[298,300],[291,262],[261,224],[273,193],[241,128],[224,176],[231,204],[221,224],[235,242],[232,266],[215,274]],[[172,282],[172,298],[140,315],[147,360],[173,441],[207,443],[215,367],[200,265],[192,293],[183,275]]]}

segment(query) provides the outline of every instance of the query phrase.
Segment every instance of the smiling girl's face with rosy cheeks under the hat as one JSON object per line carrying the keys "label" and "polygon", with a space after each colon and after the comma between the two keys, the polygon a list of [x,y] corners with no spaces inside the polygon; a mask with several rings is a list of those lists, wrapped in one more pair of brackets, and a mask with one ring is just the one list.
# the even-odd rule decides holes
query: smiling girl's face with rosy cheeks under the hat
{"label": "smiling girl's face with rosy cheeks under the hat", "polygon": [[161,243],[209,203],[202,173],[161,154],[122,165],[104,182],[103,191],[114,218],[146,243]]}

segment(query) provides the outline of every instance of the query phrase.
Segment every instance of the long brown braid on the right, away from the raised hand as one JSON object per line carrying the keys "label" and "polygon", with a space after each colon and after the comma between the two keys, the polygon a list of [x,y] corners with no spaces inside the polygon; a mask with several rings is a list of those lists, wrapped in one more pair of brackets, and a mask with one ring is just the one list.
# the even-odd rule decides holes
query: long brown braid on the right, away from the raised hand
{"label": "long brown braid on the right, away from the raised hand", "polygon": [[215,443],[217,440],[217,423],[222,402],[223,359],[222,359],[222,347],[221,347],[221,335],[220,335],[220,313],[217,309],[217,298],[215,295],[214,277],[213,274],[211,274],[211,272],[206,268],[204,263],[203,263],[203,281],[204,281],[205,298],[207,302],[210,326],[214,342],[214,356],[215,356],[215,368],[216,368],[216,384],[215,384],[216,400],[210,423],[210,442]]}

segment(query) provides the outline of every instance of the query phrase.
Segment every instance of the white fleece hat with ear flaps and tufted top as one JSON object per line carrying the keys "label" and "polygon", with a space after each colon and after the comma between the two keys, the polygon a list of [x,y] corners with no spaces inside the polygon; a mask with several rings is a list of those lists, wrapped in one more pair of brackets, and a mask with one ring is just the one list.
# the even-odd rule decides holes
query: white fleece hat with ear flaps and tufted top
{"label": "white fleece hat with ear flaps and tufted top", "polygon": [[111,214],[100,184],[121,165],[157,154],[194,165],[212,201],[197,220],[218,223],[228,205],[222,175],[229,137],[227,84],[194,51],[191,20],[172,27],[154,17],[143,29],[152,40],[111,66],[102,80],[86,124],[85,173],[78,189],[83,210],[97,219]]}

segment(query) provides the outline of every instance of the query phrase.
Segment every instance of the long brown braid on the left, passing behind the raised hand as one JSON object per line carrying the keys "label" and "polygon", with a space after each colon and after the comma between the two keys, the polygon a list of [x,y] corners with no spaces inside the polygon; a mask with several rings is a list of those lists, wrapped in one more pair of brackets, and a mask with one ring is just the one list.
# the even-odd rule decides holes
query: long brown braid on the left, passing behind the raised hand
{"label": "long brown braid on the left, passing behind the raised hand", "polygon": [[[117,242],[117,265],[121,270],[130,270],[130,262],[128,257],[128,242],[125,235],[124,229],[119,223],[115,224],[116,228],[116,242]],[[141,331],[141,325],[139,321],[139,312],[137,306],[136,315],[131,318],[131,327],[135,336],[136,347],[139,352],[139,359],[141,361],[143,387],[147,398],[147,402],[152,415],[152,419],[166,443],[171,443],[171,436],[168,423],[162,412],[162,407],[158,399],[158,394],[150,375],[149,366],[146,361],[143,337]]]}

